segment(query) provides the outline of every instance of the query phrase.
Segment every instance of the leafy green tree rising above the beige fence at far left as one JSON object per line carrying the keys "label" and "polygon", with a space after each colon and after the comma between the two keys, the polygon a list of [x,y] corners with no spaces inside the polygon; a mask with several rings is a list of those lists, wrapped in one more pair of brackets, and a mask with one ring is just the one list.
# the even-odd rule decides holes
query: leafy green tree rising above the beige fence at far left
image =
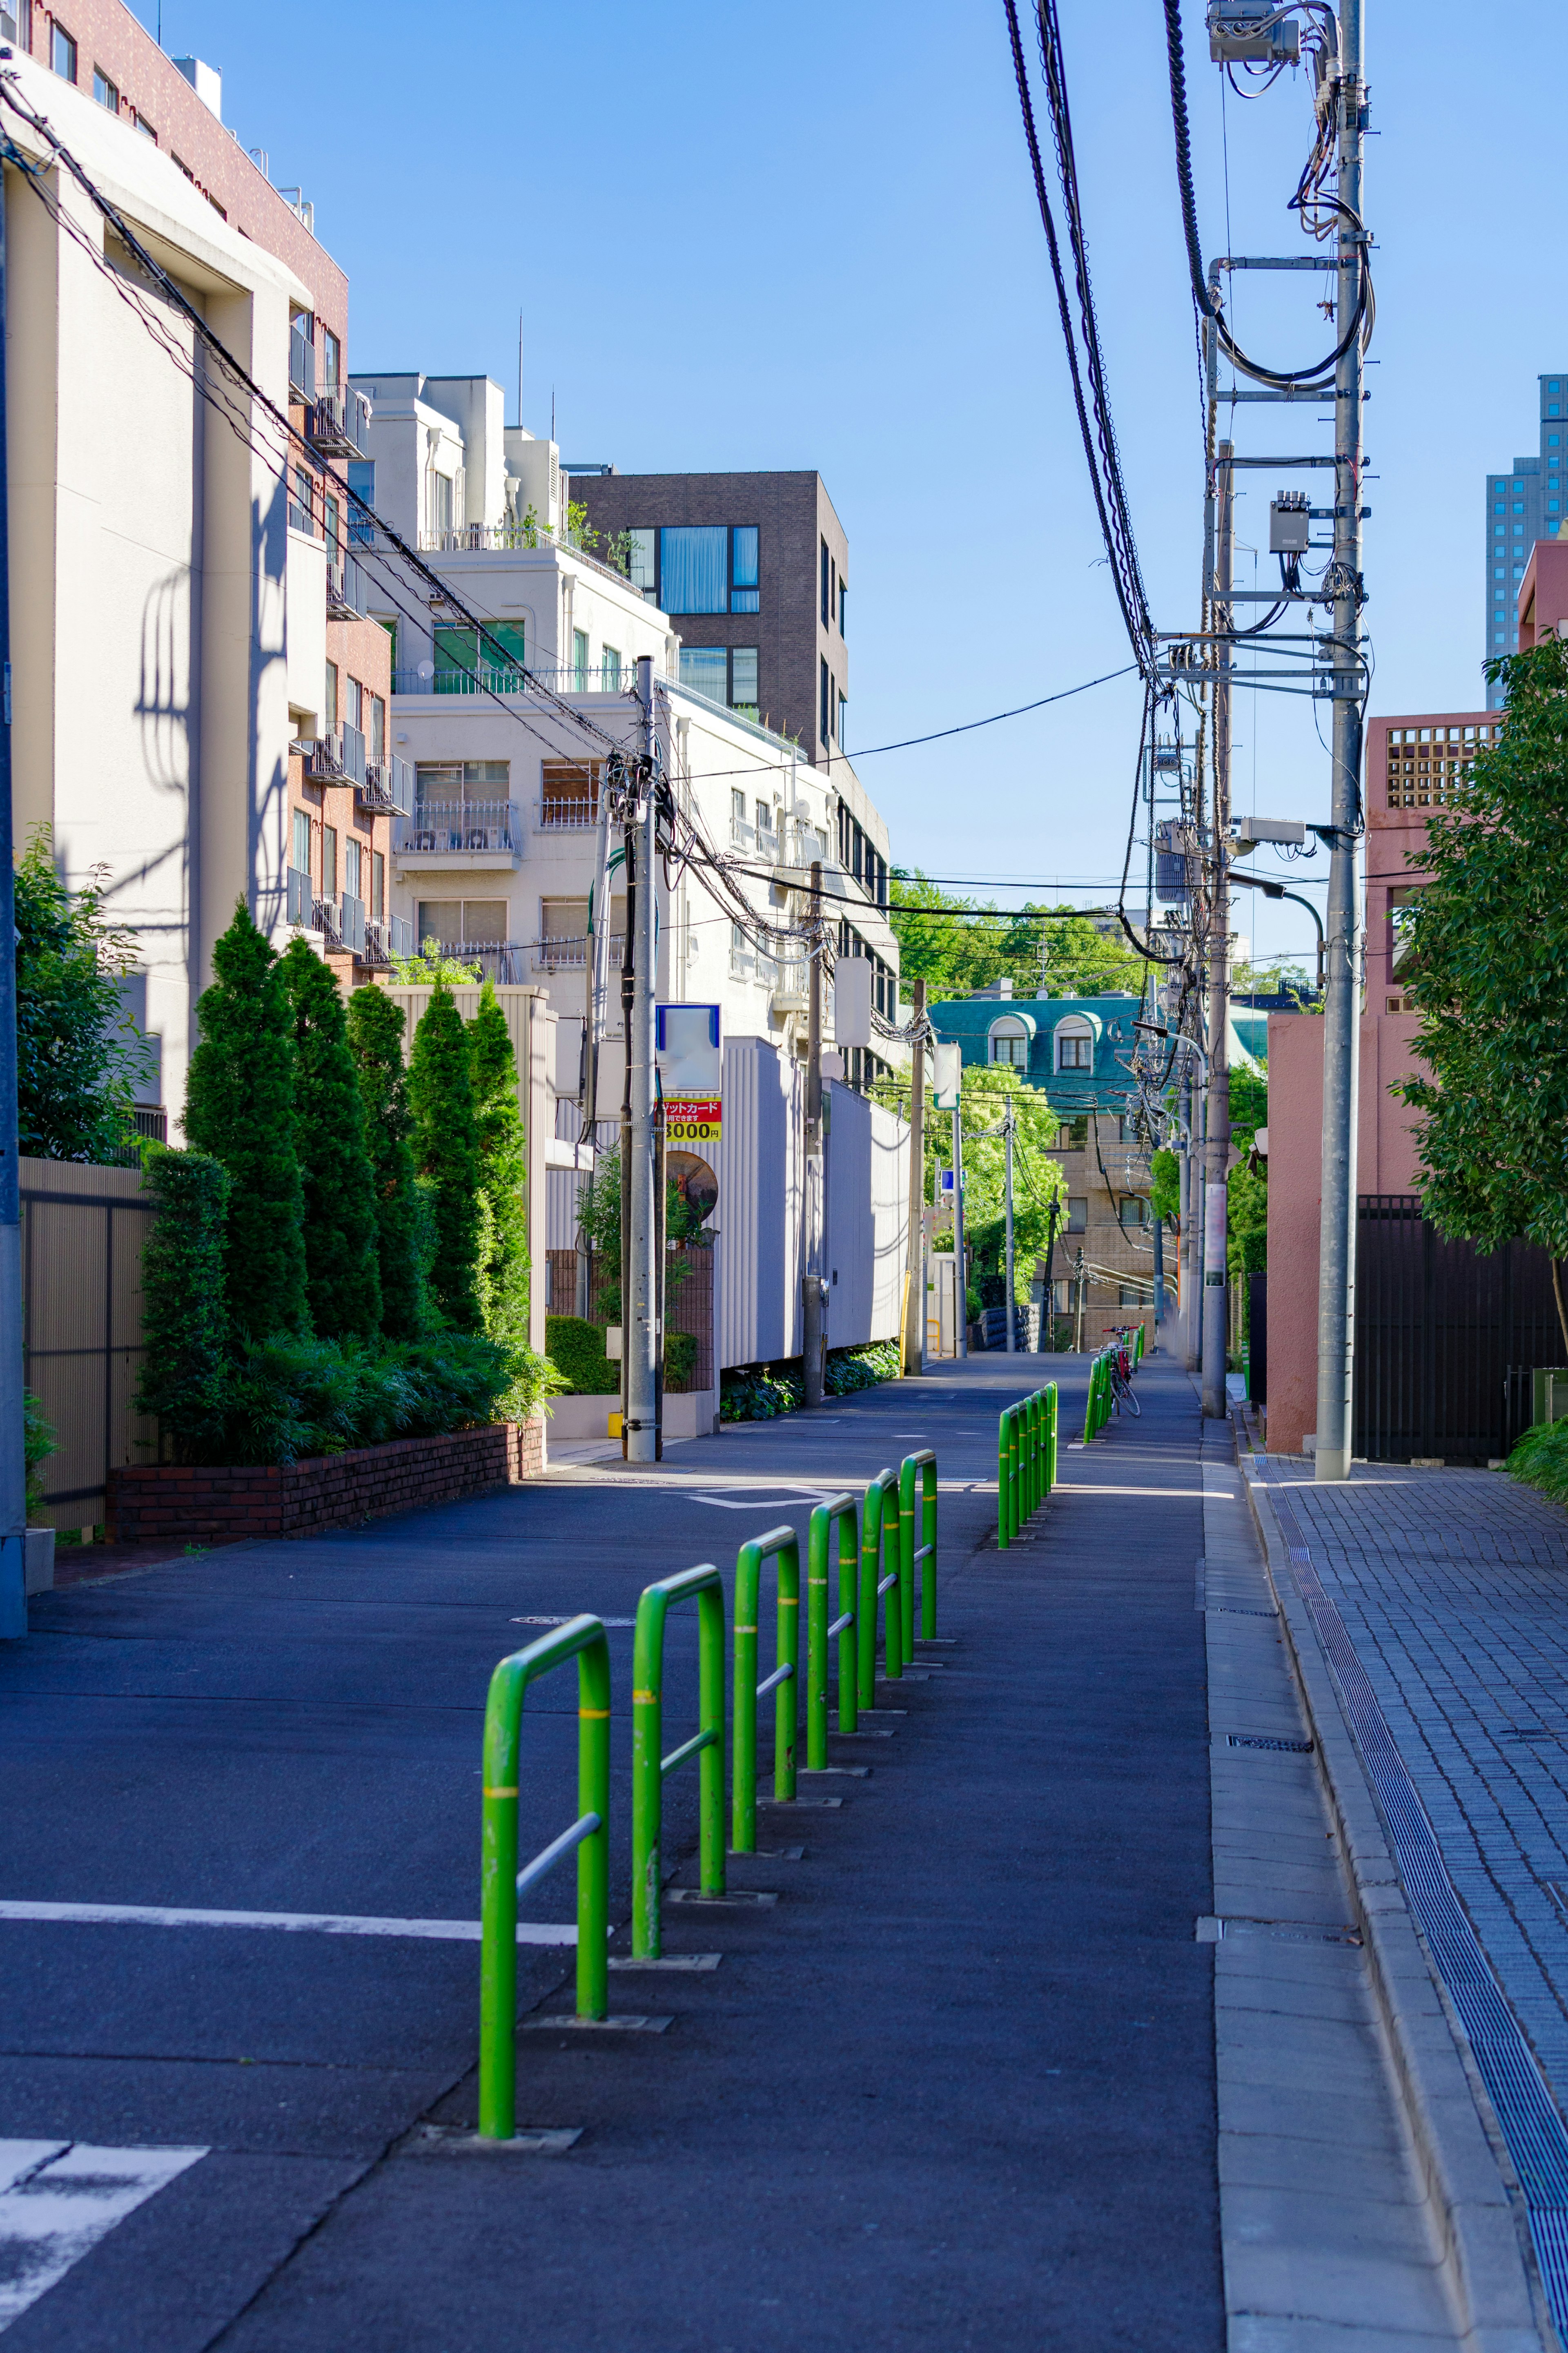
{"label": "leafy green tree rising above the beige fence at far left", "polygon": [[153,1047],[120,1002],[134,934],[103,920],[94,880],[73,892],[42,826],[16,861],[16,1111],[38,1160],[118,1160]]}

